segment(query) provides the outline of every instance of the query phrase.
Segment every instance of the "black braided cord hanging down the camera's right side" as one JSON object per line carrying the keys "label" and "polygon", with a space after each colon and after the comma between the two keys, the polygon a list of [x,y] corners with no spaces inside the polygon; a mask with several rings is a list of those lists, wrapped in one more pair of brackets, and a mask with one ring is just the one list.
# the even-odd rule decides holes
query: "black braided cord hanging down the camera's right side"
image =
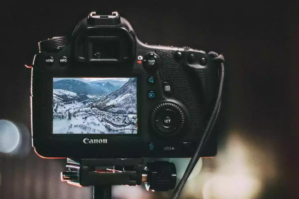
{"label": "black braided cord hanging down the camera's right side", "polygon": [[[209,54],[213,55],[214,58],[213,60],[222,60],[224,61],[224,57],[223,55],[218,55],[215,52],[209,52]],[[200,140],[199,146],[197,147],[197,150],[194,154],[194,156],[191,158],[186,171],[184,172],[184,175],[182,177],[182,179],[180,180],[178,186],[176,187],[176,189],[173,191],[173,194],[171,195],[170,199],[178,199],[179,195],[181,194],[185,183],[187,182],[187,179],[189,178],[191,172],[193,171],[196,163],[198,162],[203,146],[205,145],[207,138],[210,135],[210,132],[212,130],[212,128],[210,128],[211,126],[213,127],[216,120],[214,120],[219,113],[220,110],[220,105],[221,105],[221,98],[222,98],[222,88],[223,88],[223,81],[224,81],[224,64],[223,62],[221,63],[221,72],[220,72],[220,82],[219,82],[219,91],[218,91],[218,95],[217,95],[217,100],[213,109],[213,112],[210,116],[209,122],[207,124],[207,127],[205,129],[205,132],[202,136],[202,139]],[[216,117],[215,117],[216,116]],[[213,123],[213,124],[212,124]]]}

